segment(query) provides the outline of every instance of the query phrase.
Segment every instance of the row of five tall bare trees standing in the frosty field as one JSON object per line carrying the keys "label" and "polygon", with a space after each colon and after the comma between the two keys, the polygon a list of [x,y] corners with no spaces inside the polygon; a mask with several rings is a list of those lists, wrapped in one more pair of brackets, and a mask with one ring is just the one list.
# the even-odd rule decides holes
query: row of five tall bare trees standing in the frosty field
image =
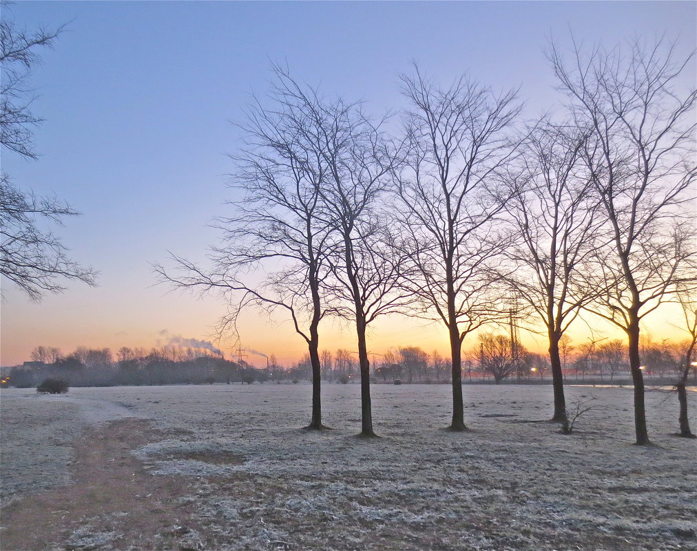
{"label": "row of five tall bare trees standing in the frosty field", "polygon": [[468,76],[440,86],[415,66],[400,77],[410,107],[396,122],[275,66],[275,85],[239,125],[231,185],[243,200],[218,221],[210,266],[174,257],[175,269],[155,270],[219,292],[230,306],[222,331],[250,305],[286,312],[308,346],[313,429],[320,322],[351,321],[362,436],[374,436],[367,329],[378,317],[443,322],[450,429],[461,431],[466,335],[514,315],[542,324],[563,421],[560,340],[585,310],[627,335],[636,442],[648,444],[641,321],[675,294],[689,301],[696,283],[696,91],[679,79],[691,57],[639,40],[547,53],[563,106],[531,123],[518,90]]}

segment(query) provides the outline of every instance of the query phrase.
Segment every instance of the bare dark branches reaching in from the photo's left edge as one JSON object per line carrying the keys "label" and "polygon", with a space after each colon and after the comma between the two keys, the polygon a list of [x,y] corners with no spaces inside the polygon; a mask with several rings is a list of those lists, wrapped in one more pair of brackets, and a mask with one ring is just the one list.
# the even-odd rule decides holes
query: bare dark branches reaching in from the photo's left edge
{"label": "bare dark branches reaching in from the photo's left edge", "polygon": [[[26,79],[40,62],[38,49],[52,47],[61,30],[38,29],[29,34],[17,29],[4,13],[0,21],[0,144],[25,159],[38,158],[32,128],[41,122],[29,109],[33,95]],[[61,279],[95,285],[95,271],[72,261],[61,240],[39,228],[41,219],[61,224],[66,216],[77,214],[57,198],[22,191],[6,173],[0,173],[0,275],[33,301],[45,292],[63,291]]]}

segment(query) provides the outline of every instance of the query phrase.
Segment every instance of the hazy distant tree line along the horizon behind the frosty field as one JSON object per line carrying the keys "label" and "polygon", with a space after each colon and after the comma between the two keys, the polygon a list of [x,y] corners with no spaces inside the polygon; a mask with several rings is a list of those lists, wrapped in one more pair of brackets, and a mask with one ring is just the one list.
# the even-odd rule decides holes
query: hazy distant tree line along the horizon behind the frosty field
{"label": "hazy distant tree line along the horizon behind the frosty field", "polygon": [[[691,342],[652,342],[641,344],[642,371],[654,378],[680,378]],[[562,372],[572,381],[627,380],[627,346],[622,340],[588,338],[576,346],[568,336],[562,339]],[[513,351],[512,351],[513,350]],[[321,378],[328,383],[358,381],[355,354],[346,349],[334,353],[321,351]],[[208,349],[183,346],[158,348],[121,347],[116,351],[78,346],[63,356],[52,346],[36,346],[31,362],[13,368],[6,386],[32,387],[38,379],[61,376],[72,386],[103,385],[170,385],[212,383],[260,383],[312,381],[309,355],[297,362],[279,365],[275,356],[268,358],[265,368],[251,367],[244,360],[224,360]],[[697,367],[692,369],[697,380]],[[418,346],[389,349],[374,362],[372,375],[376,383],[449,383],[450,358],[434,350],[430,354]],[[514,381],[550,381],[549,357],[527,351],[518,343],[511,346],[510,337],[502,333],[482,333],[478,344],[464,353],[464,382],[491,381],[510,378]],[[4,380],[4,379],[3,379]]]}

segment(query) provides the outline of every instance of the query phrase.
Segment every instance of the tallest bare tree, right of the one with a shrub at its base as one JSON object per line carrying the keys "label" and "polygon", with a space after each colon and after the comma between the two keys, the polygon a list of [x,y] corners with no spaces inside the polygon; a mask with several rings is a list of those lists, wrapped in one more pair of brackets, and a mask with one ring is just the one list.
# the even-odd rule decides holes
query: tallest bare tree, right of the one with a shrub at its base
{"label": "tallest bare tree, right of the one with a shrub at its base", "polygon": [[678,82],[693,57],[675,57],[664,41],[636,40],[626,55],[574,43],[571,61],[557,45],[549,51],[576,125],[590,131],[583,155],[611,236],[597,251],[596,283],[606,292],[591,310],[627,335],[637,445],[650,444],[641,320],[697,273],[694,210],[686,208],[696,176],[697,92]]}

